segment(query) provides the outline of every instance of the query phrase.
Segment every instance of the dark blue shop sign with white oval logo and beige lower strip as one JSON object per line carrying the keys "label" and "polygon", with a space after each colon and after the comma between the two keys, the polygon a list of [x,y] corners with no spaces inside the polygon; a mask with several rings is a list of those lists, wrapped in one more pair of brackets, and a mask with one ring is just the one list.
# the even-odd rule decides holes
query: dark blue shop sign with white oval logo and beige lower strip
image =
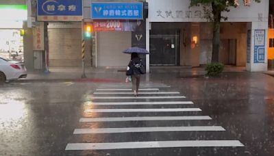
{"label": "dark blue shop sign with white oval logo and beige lower strip", "polygon": [[38,0],[38,21],[82,21],[82,0]]}

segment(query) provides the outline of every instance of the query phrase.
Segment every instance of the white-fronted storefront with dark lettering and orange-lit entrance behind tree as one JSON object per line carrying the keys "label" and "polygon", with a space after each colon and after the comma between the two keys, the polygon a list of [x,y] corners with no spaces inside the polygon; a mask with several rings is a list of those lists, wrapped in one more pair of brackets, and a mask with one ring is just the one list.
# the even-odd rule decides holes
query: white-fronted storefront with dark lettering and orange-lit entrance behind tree
{"label": "white-fronted storefront with dark lettering and orange-lit entrance behind tree", "polygon": [[[190,1],[180,0],[147,2],[149,64],[200,66],[211,61],[212,24],[203,18],[202,7],[189,8]],[[264,40],[268,34],[269,1],[254,2],[250,6],[243,3],[240,1],[238,8],[223,14],[228,18],[221,24],[219,61],[245,66],[251,71],[264,71],[267,68]]]}

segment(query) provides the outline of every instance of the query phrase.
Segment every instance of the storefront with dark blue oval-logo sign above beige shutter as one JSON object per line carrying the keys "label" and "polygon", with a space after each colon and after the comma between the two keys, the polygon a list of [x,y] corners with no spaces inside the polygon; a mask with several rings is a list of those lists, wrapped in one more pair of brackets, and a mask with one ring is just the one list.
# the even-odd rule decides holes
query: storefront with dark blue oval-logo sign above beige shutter
{"label": "storefront with dark blue oval-logo sign above beige shutter", "polygon": [[[34,34],[34,54],[42,56],[42,62],[50,67],[82,66],[82,1],[37,1],[36,28],[45,25],[45,40],[40,41]],[[42,28],[41,28],[42,29]],[[39,35],[40,36],[40,35]],[[37,46],[36,40],[42,46]],[[86,44],[86,51],[89,44]],[[85,65],[91,66],[90,53],[85,55]],[[47,60],[47,61],[45,61]],[[36,64],[34,64],[36,66]]]}

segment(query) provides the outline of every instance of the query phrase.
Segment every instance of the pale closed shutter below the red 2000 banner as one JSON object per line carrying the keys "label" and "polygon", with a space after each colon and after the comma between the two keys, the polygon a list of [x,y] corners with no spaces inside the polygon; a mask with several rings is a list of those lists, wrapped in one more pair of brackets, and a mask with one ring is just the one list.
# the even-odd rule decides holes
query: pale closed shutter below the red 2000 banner
{"label": "pale closed shutter below the red 2000 banner", "polygon": [[97,33],[97,66],[127,66],[130,55],[122,53],[131,47],[131,31],[108,31]]}

